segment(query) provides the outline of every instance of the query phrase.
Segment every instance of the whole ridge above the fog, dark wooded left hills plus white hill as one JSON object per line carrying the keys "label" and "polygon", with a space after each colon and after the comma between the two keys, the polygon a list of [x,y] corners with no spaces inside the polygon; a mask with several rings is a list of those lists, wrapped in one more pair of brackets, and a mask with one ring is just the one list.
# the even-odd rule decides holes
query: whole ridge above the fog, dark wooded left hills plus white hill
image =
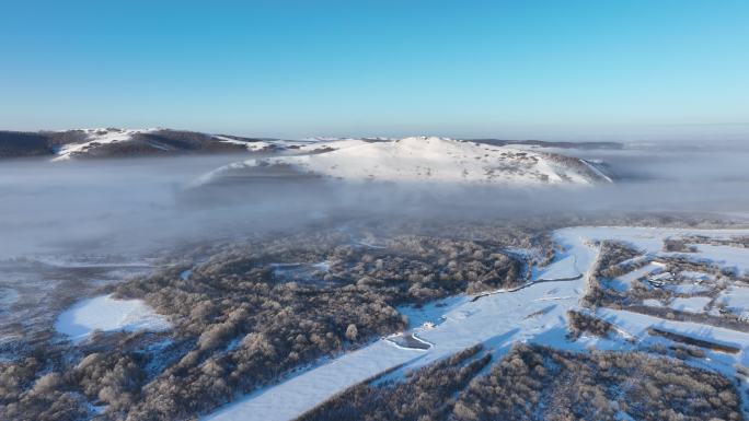
{"label": "whole ridge above the fog, dark wooded left hills plus white hill", "polygon": [[[0,131],[0,157],[92,157],[240,153],[246,160],[215,175],[323,176],[346,180],[590,185],[610,183],[598,163],[569,157],[528,141],[457,140],[438,137],[243,138],[195,131],[77,129]],[[210,178],[210,177],[209,177]]]}

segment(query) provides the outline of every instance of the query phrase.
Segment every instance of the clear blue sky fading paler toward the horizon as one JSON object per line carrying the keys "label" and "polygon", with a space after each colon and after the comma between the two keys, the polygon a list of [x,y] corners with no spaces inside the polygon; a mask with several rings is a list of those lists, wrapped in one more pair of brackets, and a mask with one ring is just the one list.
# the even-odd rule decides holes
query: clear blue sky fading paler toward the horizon
{"label": "clear blue sky fading paler toward the horizon", "polygon": [[744,0],[3,0],[0,15],[5,129],[533,137],[749,124]]}

